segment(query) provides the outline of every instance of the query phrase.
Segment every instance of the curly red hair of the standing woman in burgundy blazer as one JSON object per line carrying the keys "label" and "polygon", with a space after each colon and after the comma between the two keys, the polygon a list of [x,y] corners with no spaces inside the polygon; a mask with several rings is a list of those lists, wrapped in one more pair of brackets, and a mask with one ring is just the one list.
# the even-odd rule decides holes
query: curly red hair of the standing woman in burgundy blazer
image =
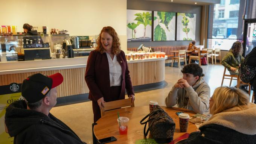
{"label": "curly red hair of the standing woman in burgundy blazer", "polygon": [[120,40],[119,40],[119,38],[117,36],[116,30],[113,29],[113,27],[111,27],[111,26],[106,26],[106,27],[102,28],[101,33],[99,34],[99,37],[98,37],[98,40],[97,40],[98,46],[96,47],[96,50],[98,52],[100,52],[101,54],[104,53],[104,51],[105,51],[103,46],[102,46],[102,44],[101,44],[101,34],[103,32],[106,32],[106,33],[108,33],[109,35],[112,36],[112,38],[113,38],[112,53],[114,53],[114,55],[118,55],[121,52]]}

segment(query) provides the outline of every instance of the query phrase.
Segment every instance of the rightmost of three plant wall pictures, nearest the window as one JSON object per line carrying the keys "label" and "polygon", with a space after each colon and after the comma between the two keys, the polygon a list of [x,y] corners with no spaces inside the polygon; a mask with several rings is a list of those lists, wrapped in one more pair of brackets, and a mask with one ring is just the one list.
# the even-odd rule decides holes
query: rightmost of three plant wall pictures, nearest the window
{"label": "rightmost of three plant wall pictures, nearest the window", "polygon": [[197,14],[177,13],[177,41],[195,39]]}

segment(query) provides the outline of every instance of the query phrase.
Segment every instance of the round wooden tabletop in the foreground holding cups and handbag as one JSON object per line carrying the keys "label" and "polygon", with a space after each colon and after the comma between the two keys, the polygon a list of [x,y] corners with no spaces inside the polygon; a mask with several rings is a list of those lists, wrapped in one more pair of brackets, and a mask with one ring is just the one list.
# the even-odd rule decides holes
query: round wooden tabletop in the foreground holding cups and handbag
{"label": "round wooden tabletop in the foreground holding cups and handbag", "polygon": [[[167,112],[170,117],[174,120],[176,124],[176,129],[174,133],[174,139],[180,137],[184,132],[180,132],[179,118],[175,112],[183,111],[190,116],[195,115],[193,111],[180,108],[166,108],[166,106],[161,106],[165,112]],[[130,119],[128,123],[128,133],[127,135],[119,134],[119,126],[117,123],[117,112],[122,117],[128,117]],[[135,144],[138,139],[143,139],[143,129],[144,125],[140,124],[140,120],[149,114],[149,106],[136,106],[127,107],[121,109],[115,109],[112,111],[106,111],[105,115],[101,117],[94,126],[94,135],[97,139],[107,138],[114,136],[117,141],[111,142],[111,144]],[[148,127],[148,126],[147,126]],[[187,132],[195,132],[197,127],[195,124],[189,122],[189,127]]]}

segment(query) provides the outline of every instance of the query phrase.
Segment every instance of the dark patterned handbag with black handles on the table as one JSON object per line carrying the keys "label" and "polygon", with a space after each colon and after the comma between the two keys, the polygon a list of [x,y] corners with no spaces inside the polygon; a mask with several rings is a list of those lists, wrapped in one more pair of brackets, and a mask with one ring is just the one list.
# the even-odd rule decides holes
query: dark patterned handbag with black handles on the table
{"label": "dark patterned handbag with black handles on the table", "polygon": [[[148,120],[143,122],[146,118],[148,118]],[[147,123],[148,129],[146,130]],[[146,117],[140,121],[140,124],[145,124],[144,136],[146,137],[150,131],[150,136],[152,136],[157,143],[169,143],[173,139],[175,123],[172,118],[158,105],[151,113],[146,115]]]}

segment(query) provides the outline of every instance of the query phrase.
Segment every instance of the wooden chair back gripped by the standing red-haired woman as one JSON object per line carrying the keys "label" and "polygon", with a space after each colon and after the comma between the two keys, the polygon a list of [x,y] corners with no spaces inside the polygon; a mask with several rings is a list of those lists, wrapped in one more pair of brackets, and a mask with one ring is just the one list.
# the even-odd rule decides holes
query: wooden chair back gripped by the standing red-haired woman
{"label": "wooden chair back gripped by the standing red-haired woman", "polygon": [[133,106],[134,102],[132,102],[132,99],[123,99],[123,100],[115,100],[112,102],[104,103],[105,107],[101,107],[101,116],[105,115],[105,111],[111,110],[111,109],[117,109],[122,108],[126,106]]}

